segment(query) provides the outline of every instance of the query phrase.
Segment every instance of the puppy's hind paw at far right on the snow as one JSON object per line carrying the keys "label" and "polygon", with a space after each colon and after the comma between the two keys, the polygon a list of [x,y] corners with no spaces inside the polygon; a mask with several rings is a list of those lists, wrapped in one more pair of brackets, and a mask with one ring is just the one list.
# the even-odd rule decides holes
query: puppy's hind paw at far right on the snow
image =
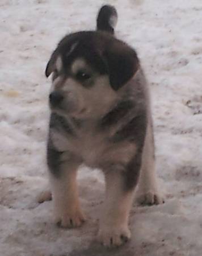
{"label": "puppy's hind paw at far right on the snow", "polygon": [[149,190],[149,191],[137,191],[135,199],[138,204],[144,205],[153,205],[153,204],[163,204],[165,203],[161,194],[158,191]]}

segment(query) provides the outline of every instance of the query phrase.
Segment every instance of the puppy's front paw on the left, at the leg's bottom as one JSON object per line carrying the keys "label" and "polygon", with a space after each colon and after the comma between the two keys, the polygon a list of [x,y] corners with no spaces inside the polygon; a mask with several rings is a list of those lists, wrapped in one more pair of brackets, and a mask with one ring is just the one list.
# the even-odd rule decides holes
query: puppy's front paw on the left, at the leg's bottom
{"label": "puppy's front paw on the left, at the leg's bottom", "polygon": [[85,221],[86,217],[79,209],[72,212],[63,211],[54,217],[54,222],[61,228],[78,228]]}

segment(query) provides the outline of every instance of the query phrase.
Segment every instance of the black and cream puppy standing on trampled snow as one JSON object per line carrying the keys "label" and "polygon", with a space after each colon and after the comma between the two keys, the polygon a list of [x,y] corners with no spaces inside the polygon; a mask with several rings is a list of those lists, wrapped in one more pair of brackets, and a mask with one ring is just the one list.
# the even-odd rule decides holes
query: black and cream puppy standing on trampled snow
{"label": "black and cream puppy standing on trampled snow", "polygon": [[[100,168],[106,199],[98,240],[118,246],[130,238],[134,190],[141,203],[159,204],[148,84],[137,54],[113,36],[116,9],[103,6],[96,31],[65,36],[48,61],[52,76],[47,162],[54,217],[65,228],[85,221],[77,189],[83,163]],[[45,193],[44,199],[50,197]]]}

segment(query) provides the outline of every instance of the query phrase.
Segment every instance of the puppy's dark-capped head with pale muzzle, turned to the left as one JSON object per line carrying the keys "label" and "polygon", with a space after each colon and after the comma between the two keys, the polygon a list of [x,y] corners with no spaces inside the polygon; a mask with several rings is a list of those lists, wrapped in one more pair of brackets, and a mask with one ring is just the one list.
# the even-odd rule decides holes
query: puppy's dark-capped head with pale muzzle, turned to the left
{"label": "puppy's dark-capped head with pale muzzle, turned to the left", "polygon": [[100,117],[137,69],[136,52],[109,33],[70,34],[58,44],[45,71],[47,77],[53,73],[50,108],[73,117]]}

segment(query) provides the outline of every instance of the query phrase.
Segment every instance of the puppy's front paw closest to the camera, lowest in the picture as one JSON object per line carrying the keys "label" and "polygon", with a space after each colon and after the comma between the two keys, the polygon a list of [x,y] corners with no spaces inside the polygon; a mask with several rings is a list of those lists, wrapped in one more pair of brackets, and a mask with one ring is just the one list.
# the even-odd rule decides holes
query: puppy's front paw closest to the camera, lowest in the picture
{"label": "puppy's front paw closest to the camera, lowest in the picture", "polygon": [[107,247],[123,245],[131,238],[131,232],[128,226],[101,226],[98,232],[97,240]]}

